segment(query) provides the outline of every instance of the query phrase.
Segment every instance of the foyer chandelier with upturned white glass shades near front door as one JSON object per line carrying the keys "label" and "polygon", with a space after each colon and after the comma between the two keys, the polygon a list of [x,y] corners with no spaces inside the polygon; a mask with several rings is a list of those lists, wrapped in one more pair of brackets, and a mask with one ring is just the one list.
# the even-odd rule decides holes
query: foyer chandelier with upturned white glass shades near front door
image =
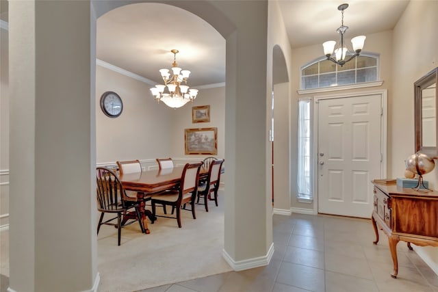
{"label": "foyer chandelier with upturned white glass shades near front door", "polygon": [[[331,62],[338,64],[339,66],[344,66],[346,62],[351,61],[355,57],[361,53],[363,49],[363,44],[365,42],[366,36],[356,36],[351,39],[353,52],[348,51],[347,47],[344,45],[344,34],[348,29],[347,26],[344,25],[344,10],[348,8],[348,4],[344,3],[337,7],[337,10],[342,12],[342,23],[341,26],[336,29],[336,32],[341,35],[341,47],[335,49],[336,42],[334,40],[329,40],[324,42],[322,46],[324,47],[324,55],[326,55],[327,59]],[[346,59],[348,57],[348,59]]]}

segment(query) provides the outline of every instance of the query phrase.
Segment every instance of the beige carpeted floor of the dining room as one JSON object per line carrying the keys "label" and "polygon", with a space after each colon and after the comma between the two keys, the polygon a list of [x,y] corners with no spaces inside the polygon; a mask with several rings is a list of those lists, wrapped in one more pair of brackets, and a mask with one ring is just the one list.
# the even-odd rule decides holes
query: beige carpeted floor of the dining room
{"label": "beige carpeted floor of the dining room", "polygon": [[182,228],[175,219],[158,217],[155,224],[148,222],[151,233],[144,235],[138,224],[131,224],[123,228],[120,246],[116,228],[102,226],[97,240],[98,291],[132,292],[231,271],[222,258],[223,195],[220,191],[219,207],[209,202],[208,213],[196,205],[196,220],[191,211],[181,210]]}

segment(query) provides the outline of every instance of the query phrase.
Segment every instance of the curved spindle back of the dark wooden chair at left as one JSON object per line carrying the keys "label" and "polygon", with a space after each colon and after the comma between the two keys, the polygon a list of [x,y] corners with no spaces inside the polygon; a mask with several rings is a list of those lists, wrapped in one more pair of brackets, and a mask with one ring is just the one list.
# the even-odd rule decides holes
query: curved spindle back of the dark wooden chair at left
{"label": "curved spindle back of the dark wooden chair at left", "polygon": [[108,168],[96,168],[97,209],[120,211],[125,209],[125,191],[117,174]]}

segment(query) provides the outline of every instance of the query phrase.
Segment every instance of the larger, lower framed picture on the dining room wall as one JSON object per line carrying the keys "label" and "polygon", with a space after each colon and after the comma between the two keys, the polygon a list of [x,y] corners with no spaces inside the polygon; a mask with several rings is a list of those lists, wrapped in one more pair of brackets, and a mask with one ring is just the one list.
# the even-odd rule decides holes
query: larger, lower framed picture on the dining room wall
{"label": "larger, lower framed picture on the dining room wall", "polygon": [[218,155],[218,128],[185,129],[185,154]]}

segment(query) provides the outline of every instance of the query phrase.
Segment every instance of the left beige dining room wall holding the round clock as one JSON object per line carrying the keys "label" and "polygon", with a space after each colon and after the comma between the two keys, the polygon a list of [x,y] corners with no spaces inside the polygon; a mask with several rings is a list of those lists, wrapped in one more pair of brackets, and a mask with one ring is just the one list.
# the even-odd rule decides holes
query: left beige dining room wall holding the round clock
{"label": "left beige dining room wall holding the round clock", "polygon": [[[172,153],[174,110],[156,103],[152,85],[110,69],[96,66],[96,159],[97,163],[117,160],[155,159]],[[118,118],[103,114],[103,92],[114,91],[123,100]]]}

